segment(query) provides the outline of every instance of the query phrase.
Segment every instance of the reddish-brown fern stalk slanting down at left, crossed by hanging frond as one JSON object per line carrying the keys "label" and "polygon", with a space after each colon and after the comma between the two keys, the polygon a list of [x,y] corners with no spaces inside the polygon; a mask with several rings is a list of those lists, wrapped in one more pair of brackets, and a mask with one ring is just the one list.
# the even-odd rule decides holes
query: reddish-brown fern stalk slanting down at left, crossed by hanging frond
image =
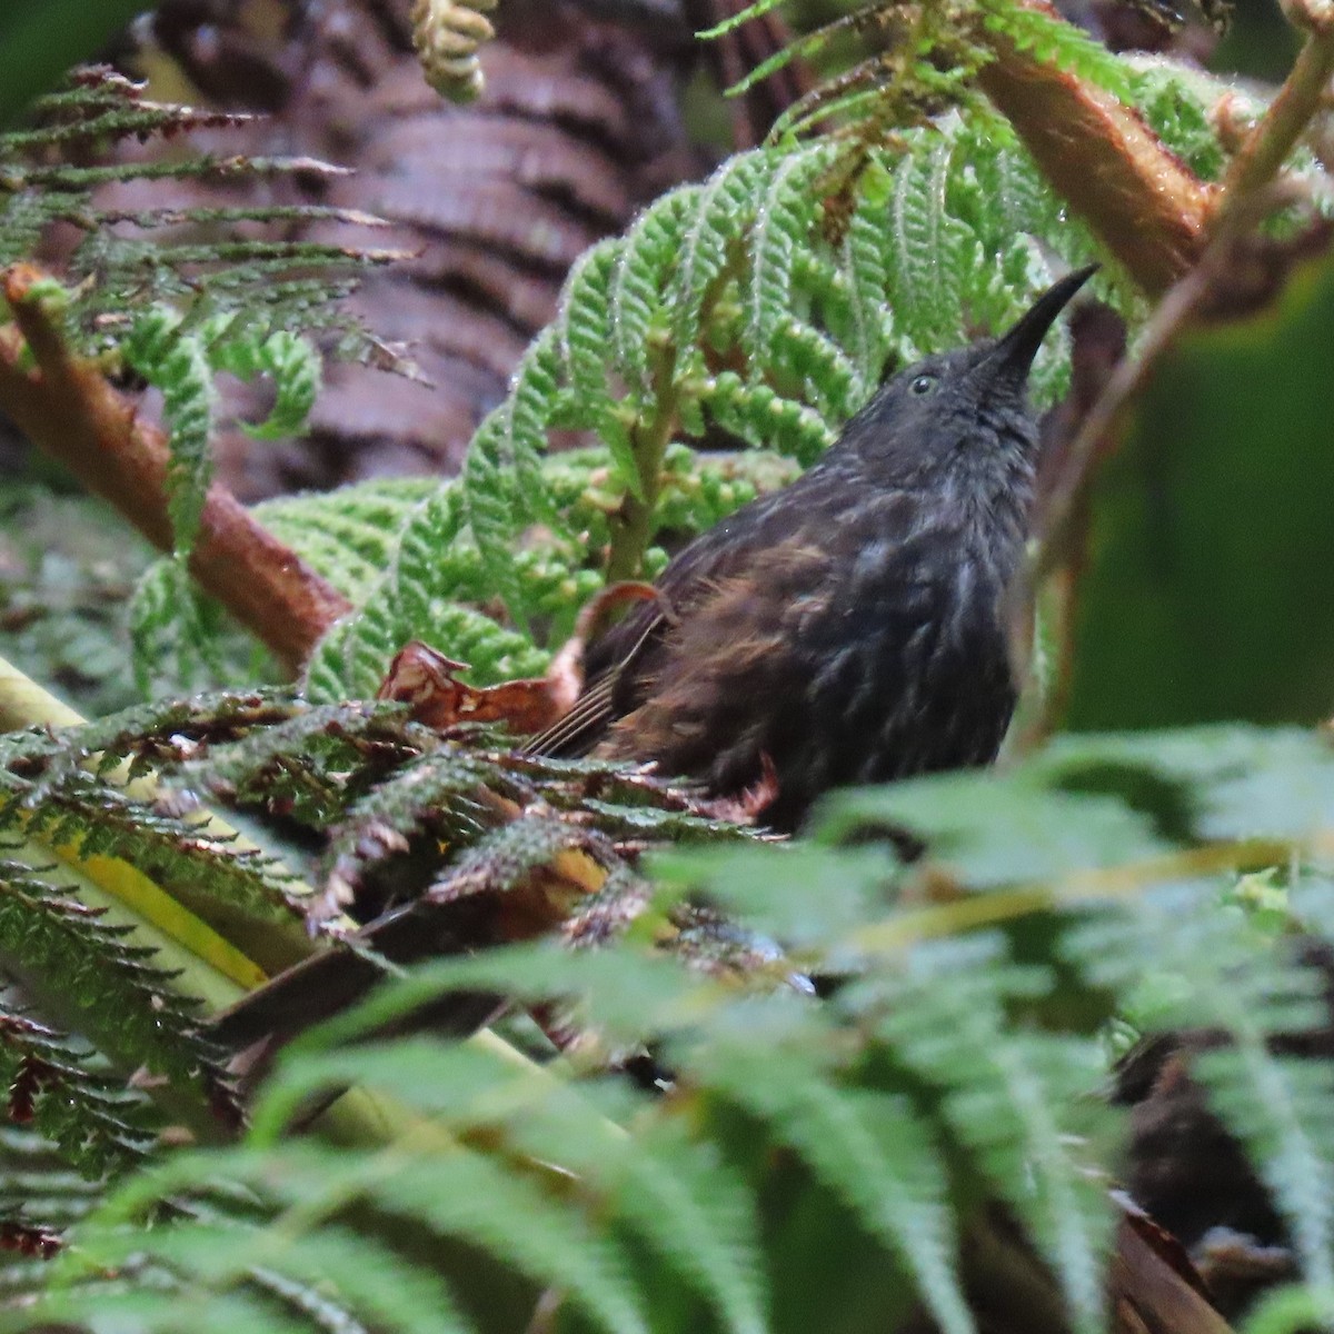
{"label": "reddish-brown fern stalk slanting down at left, crossed by hanging frond", "polygon": [[[108,500],[153,546],[172,550],[167,439],[65,346],[33,288],[45,275],[15,264],[0,275],[16,328],[0,328],[0,408],[40,448]],[[20,338],[21,335],[21,338]],[[28,368],[24,346],[35,368]],[[211,487],[189,571],[296,672],[351,603],[221,487]]]}

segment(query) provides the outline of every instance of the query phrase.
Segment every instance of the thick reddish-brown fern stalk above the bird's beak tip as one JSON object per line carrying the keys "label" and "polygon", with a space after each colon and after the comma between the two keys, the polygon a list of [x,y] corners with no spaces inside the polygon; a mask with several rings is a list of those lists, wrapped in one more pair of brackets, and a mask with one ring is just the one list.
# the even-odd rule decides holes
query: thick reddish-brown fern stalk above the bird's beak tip
{"label": "thick reddish-brown fern stalk above the bird's beak tip", "polygon": [[[1058,17],[1046,0],[1026,0]],[[1199,180],[1138,112],[1077,75],[1043,64],[999,32],[980,83],[1038,165],[1150,295],[1203,253],[1219,191]]]}

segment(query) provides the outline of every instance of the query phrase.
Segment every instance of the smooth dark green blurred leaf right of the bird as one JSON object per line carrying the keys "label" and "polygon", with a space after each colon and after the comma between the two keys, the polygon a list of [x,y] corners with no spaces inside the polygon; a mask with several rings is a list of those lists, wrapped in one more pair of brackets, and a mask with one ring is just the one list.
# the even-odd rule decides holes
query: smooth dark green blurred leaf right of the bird
{"label": "smooth dark green blurred leaf right of the bird", "polygon": [[1334,261],[1157,370],[1095,494],[1073,728],[1334,710]]}

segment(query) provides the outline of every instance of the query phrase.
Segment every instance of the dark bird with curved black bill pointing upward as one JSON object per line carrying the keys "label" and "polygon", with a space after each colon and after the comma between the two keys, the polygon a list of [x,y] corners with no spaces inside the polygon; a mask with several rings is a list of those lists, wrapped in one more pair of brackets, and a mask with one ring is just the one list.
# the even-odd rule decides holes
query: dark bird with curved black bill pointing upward
{"label": "dark bird with curved black bill pointing upward", "polygon": [[715,796],[767,787],[776,830],[832,787],[995,759],[1038,452],[1029,371],[1095,267],[1000,338],[900,371],[796,482],[690,543],[528,748],[652,762]]}

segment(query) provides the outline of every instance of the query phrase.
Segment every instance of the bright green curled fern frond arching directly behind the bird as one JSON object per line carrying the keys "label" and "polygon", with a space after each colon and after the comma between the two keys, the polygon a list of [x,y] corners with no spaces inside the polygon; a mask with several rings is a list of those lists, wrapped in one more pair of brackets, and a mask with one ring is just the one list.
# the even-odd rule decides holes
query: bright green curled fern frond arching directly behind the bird
{"label": "bright green curled fern frond arching directly behind the bird", "polygon": [[[1026,7],[1002,0],[987,13],[1017,31],[1029,24],[1025,40],[1059,39],[1082,76],[1126,83],[1167,147],[1217,179],[1226,163],[1211,119],[1221,84],[1106,55],[1117,77],[1090,73],[1083,39],[1066,25],[1030,21]],[[955,72],[966,81],[964,67]],[[910,123],[888,145],[851,156],[818,141],[730,159],[575,267],[556,321],[479,430],[462,483],[392,516],[379,550],[347,551],[319,532],[321,504],[335,518],[355,492],[309,503],[291,540],[358,611],[316,650],[307,688],[320,700],[367,695],[411,639],[470,663],[480,683],[540,672],[610,552],[618,571],[651,575],[668,514],[682,534],[718,518],[714,507],[687,527],[670,508],[674,476],[712,467],[700,446],[722,434],[807,464],[886,370],[1003,328],[1057,267],[1097,257],[1087,228],[982,101],[964,99],[928,127]],[[1142,299],[1114,268],[1095,281],[1127,319],[1142,316]],[[1035,402],[1053,402],[1067,376],[1069,340],[1057,332],[1034,367]],[[562,463],[547,454],[556,430],[596,443]],[[627,506],[650,508],[642,548],[624,532]],[[508,608],[499,616],[498,591]],[[172,596],[183,598],[179,584],[145,587],[155,648],[169,634]],[[208,643],[237,663],[213,670],[239,671],[220,618],[191,622],[191,606],[183,598],[179,638],[192,644],[196,676]]]}

